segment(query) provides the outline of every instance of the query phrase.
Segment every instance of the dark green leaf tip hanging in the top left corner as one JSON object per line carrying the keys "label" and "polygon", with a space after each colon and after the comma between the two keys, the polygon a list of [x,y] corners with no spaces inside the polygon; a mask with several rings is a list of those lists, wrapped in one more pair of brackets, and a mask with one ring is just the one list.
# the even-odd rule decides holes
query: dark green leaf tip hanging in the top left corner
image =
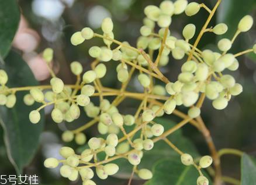
{"label": "dark green leaf tip hanging in the top left corner", "polygon": [[16,0],[0,0],[0,59],[8,54],[19,26],[19,6]]}

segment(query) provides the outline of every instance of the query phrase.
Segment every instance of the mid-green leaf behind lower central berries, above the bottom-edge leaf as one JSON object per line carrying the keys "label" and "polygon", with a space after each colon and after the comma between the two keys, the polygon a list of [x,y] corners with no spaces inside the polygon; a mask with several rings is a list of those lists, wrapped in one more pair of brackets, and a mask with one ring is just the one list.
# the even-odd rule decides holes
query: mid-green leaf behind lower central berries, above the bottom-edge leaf
{"label": "mid-green leaf behind lower central berries, above the bottom-edge leaf", "polygon": [[[175,126],[175,123],[171,120],[164,118],[156,118],[155,122],[162,124],[164,126],[165,131],[171,129],[171,127]],[[126,129],[127,130],[127,129]],[[129,132],[129,131],[127,131]],[[134,138],[138,138],[140,136],[139,132]],[[122,136],[121,136],[122,137]],[[184,152],[188,152],[192,156],[198,156],[198,152],[196,148],[193,146],[191,141],[182,136],[182,131],[177,130],[167,137],[172,143],[174,143],[180,150]],[[143,158],[141,159],[139,169],[147,168],[151,169],[155,162],[164,158],[177,158],[179,154],[175,152],[169,145],[165,143],[165,141],[158,141],[154,144],[154,148],[150,151],[143,152]],[[114,161],[117,165],[120,166],[119,172],[115,175],[115,177],[128,179],[132,173],[132,165],[127,161],[127,159],[117,159]]]}

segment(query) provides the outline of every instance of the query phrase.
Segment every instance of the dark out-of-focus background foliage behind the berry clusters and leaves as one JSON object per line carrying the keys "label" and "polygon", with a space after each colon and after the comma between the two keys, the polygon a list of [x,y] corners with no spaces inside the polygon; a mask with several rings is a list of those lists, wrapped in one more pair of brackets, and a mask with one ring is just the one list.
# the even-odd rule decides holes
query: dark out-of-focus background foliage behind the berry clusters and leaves
{"label": "dark out-of-focus background foliage behind the berry clusters and leaves", "polygon": [[[6,0],[1,0],[4,2]],[[104,17],[111,16],[114,22],[114,33],[116,40],[129,41],[131,45],[136,45],[136,39],[139,37],[140,27],[144,17],[143,9],[145,6],[153,4],[159,5],[161,0],[20,0],[20,12],[27,20],[30,29],[36,31],[34,40],[38,42],[32,53],[40,54],[46,47],[54,49],[54,69],[66,84],[75,83],[75,77],[72,76],[69,64],[72,61],[79,61],[84,66],[84,70],[90,68],[92,58],[88,55],[88,49],[93,45],[102,45],[102,40],[95,38],[86,41],[78,47],[72,47],[70,37],[75,31],[81,30],[83,27],[91,27],[95,32],[101,33],[99,29],[101,20]],[[210,8],[215,5],[215,0],[196,1],[205,3]],[[2,4],[3,5],[3,4]],[[1,6],[1,4],[0,4]],[[1,12],[0,12],[1,13]],[[256,19],[256,2],[255,0],[223,0],[217,15],[213,18],[210,26],[216,23],[224,22],[229,26],[229,30],[222,37],[230,38],[236,31],[236,26],[241,17],[246,14],[252,15]],[[1,17],[1,16],[0,16]],[[186,17],[184,14],[175,16],[171,24],[171,34],[181,38],[182,29],[188,23],[196,25],[196,33],[207,19],[207,12],[200,12],[193,17]],[[11,22],[10,22],[11,23]],[[1,33],[1,31],[0,31]],[[211,48],[217,51],[216,43],[220,37],[213,33],[206,33],[200,41],[199,48]],[[24,41],[24,40],[23,40]],[[28,40],[27,40],[28,41]],[[248,33],[239,35],[231,52],[239,52],[244,49],[251,48],[256,41],[256,24]],[[192,43],[194,40],[192,40]],[[24,43],[22,43],[24,44]],[[33,42],[32,42],[33,44]],[[15,46],[15,45],[14,45]],[[13,48],[19,53],[20,57],[27,59],[20,49]],[[11,52],[9,55],[15,55]],[[31,55],[31,54],[30,54]],[[8,58],[13,58],[8,56]],[[231,99],[229,106],[224,111],[217,111],[212,108],[210,101],[206,101],[203,105],[202,116],[205,119],[207,127],[209,127],[213,140],[217,149],[220,148],[238,148],[250,155],[256,155],[256,56],[248,55],[238,58],[240,61],[240,69],[231,72],[238,83],[243,84],[244,92],[236,98]],[[109,74],[115,71],[114,62],[107,63]],[[28,62],[29,66],[37,66],[37,63]],[[181,61],[175,61],[170,56],[167,66],[162,67],[162,72],[173,81],[177,79],[177,74],[182,65]],[[35,73],[35,72],[34,72]],[[108,87],[119,87],[115,75],[107,75],[103,79],[103,84]],[[41,84],[49,83],[46,77],[38,77]],[[136,82],[133,81],[129,87],[130,91],[141,91]],[[97,99],[95,98],[95,101]],[[134,105],[139,102],[127,99],[120,107],[124,113],[134,112]],[[186,109],[179,108],[182,111]],[[21,111],[21,110],[20,110]],[[75,129],[79,125],[87,122],[88,118],[81,116],[74,123],[70,124],[54,124],[50,116],[46,112],[46,125],[40,136],[40,147],[33,161],[26,166],[24,173],[27,175],[39,175],[40,184],[80,184],[81,182],[69,182],[61,178],[58,169],[46,169],[43,167],[43,161],[50,156],[58,157],[58,149],[63,146],[60,139],[61,133],[67,127]],[[175,116],[168,116],[168,119],[177,121]],[[183,129],[185,136],[195,143],[196,148],[202,155],[209,154],[205,141],[198,130],[192,126],[185,126]],[[97,133],[96,127],[86,131],[89,137]],[[15,174],[15,169],[8,160],[6,147],[3,140],[3,130],[0,129],[0,174]],[[77,147],[75,143],[70,143],[72,147]],[[171,150],[171,149],[170,149]],[[125,168],[125,166],[122,166]],[[224,156],[222,158],[223,173],[227,176],[240,177],[240,162],[237,157]],[[116,179],[110,177],[108,181],[96,180],[97,184],[127,184],[127,180]],[[141,181],[134,181],[133,184],[143,184]],[[250,185],[250,184],[248,184]]]}

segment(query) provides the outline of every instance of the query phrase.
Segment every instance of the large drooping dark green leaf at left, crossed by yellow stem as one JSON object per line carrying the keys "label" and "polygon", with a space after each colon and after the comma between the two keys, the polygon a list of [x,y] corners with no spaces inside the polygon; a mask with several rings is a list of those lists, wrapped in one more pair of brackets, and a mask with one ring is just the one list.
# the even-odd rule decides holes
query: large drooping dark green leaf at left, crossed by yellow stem
{"label": "large drooping dark green leaf at left, crossed by yellow stem", "polygon": [[[34,79],[29,66],[22,61],[18,54],[11,52],[5,61],[4,69],[9,76],[7,84],[9,88],[39,85]],[[16,93],[17,102],[13,108],[0,107],[0,123],[4,128],[4,141],[8,158],[18,174],[22,173],[23,168],[29,164],[36,154],[39,146],[39,136],[44,127],[43,112],[41,112],[41,120],[38,124],[30,123],[29,112],[40,105],[25,105],[23,96],[26,93],[25,91]]]}

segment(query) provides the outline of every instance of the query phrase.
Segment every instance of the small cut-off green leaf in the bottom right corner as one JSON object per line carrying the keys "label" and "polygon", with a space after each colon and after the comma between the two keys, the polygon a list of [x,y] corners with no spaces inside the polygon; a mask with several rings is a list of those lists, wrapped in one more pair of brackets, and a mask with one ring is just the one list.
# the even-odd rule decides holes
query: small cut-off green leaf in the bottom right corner
{"label": "small cut-off green leaf in the bottom right corner", "polygon": [[256,159],[243,154],[241,159],[241,185],[256,184]]}

